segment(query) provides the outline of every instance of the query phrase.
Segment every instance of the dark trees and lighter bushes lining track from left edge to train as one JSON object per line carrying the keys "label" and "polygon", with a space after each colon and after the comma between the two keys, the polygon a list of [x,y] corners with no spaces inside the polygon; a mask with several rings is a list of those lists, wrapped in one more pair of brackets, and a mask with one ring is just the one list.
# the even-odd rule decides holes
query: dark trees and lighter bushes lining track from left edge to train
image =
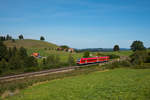
{"label": "dark trees and lighter bushes lining track from left edge to train", "polygon": [[3,41],[0,41],[0,75],[72,65],[75,65],[75,60],[71,54],[68,56],[67,62],[61,62],[59,55],[54,54],[49,55],[47,58],[43,58],[39,62],[33,56],[28,55],[24,47],[7,48]]}

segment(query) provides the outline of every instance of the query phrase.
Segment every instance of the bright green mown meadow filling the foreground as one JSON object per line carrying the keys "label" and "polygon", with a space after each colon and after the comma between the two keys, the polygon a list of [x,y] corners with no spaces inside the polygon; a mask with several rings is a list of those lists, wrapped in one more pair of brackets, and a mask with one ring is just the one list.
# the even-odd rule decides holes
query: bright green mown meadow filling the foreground
{"label": "bright green mown meadow filling the foreground", "polygon": [[37,84],[5,100],[149,100],[150,69],[114,69]]}

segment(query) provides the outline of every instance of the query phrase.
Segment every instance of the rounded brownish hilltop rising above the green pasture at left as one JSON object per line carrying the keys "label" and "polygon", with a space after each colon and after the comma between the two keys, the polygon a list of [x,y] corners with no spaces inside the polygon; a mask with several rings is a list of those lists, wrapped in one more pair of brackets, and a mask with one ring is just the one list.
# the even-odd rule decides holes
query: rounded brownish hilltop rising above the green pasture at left
{"label": "rounded brownish hilltop rising above the green pasture at left", "polygon": [[24,48],[57,48],[58,46],[53,43],[41,41],[41,40],[32,40],[32,39],[24,39],[24,40],[15,40],[12,42],[11,40],[4,42],[7,47],[16,46],[17,48],[23,46]]}

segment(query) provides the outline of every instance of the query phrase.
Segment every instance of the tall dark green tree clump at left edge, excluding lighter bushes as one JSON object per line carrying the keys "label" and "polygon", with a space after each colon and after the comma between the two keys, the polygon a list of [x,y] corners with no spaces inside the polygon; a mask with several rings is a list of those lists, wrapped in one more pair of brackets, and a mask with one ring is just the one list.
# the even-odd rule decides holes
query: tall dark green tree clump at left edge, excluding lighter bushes
{"label": "tall dark green tree clump at left edge, excluding lighter bushes", "polygon": [[0,41],[0,74],[17,70],[28,71],[37,66],[37,60],[32,56],[28,56],[25,48],[7,48]]}

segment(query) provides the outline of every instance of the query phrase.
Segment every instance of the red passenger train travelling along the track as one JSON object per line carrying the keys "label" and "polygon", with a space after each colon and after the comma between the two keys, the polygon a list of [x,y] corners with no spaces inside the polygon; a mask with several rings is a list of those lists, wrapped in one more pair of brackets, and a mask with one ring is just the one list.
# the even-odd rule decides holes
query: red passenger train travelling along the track
{"label": "red passenger train travelling along the track", "polygon": [[108,60],[109,60],[109,56],[81,58],[77,60],[77,64],[82,65],[82,64],[91,64],[91,63],[102,63],[102,62],[107,62]]}

